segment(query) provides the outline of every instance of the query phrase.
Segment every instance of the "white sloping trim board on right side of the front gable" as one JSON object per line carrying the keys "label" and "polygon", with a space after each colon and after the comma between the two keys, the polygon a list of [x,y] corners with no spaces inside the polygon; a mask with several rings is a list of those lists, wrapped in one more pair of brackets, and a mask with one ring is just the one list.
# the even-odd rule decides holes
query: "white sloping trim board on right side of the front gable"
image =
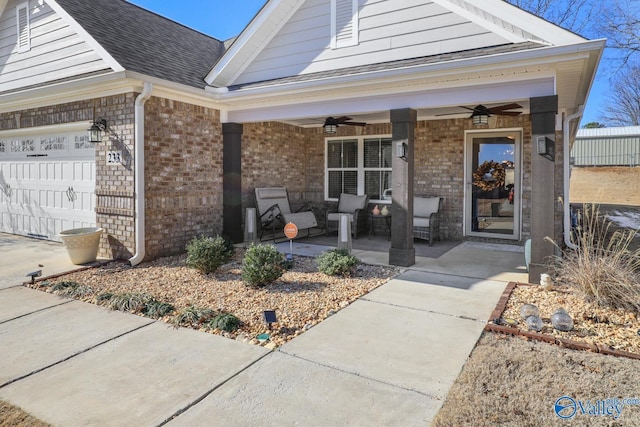
{"label": "white sloping trim board on right side of the front gable", "polygon": [[[435,0],[437,2],[451,3],[451,0]],[[473,5],[486,13],[507,22],[514,27],[520,28],[528,33],[545,40],[551,45],[560,46],[584,42],[581,37],[569,30],[565,30],[558,25],[529,13],[519,7],[513,6],[503,0],[462,0]]]}

